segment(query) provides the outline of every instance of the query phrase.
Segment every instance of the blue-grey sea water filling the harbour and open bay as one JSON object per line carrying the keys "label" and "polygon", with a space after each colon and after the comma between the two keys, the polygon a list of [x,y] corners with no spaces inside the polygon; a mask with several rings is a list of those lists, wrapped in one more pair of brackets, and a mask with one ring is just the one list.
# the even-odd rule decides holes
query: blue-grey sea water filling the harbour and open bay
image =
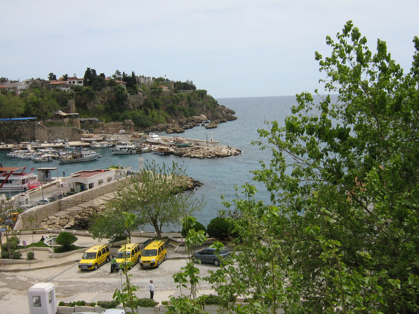
{"label": "blue-grey sea water filling the harbour and open bay", "polygon": [[[221,195],[226,200],[231,201],[235,198],[234,185],[239,188],[246,182],[256,185],[259,190],[256,197],[269,204],[269,193],[264,185],[252,182],[251,170],[260,168],[259,161],[268,161],[271,158],[269,150],[261,151],[259,147],[253,146],[250,142],[259,139],[257,130],[266,127],[264,121],[277,120],[280,125],[284,124],[284,119],[289,115],[290,108],[296,104],[295,96],[279,96],[279,97],[251,97],[251,98],[220,98],[218,103],[230,109],[233,109],[238,117],[235,121],[220,123],[216,129],[211,129],[212,137],[215,141],[220,141],[222,145],[229,145],[239,148],[243,153],[236,157],[219,158],[219,159],[191,159],[181,158],[173,155],[160,156],[153,153],[145,153],[142,155],[145,162],[147,160],[155,160],[156,163],[171,165],[172,161],[186,167],[187,174],[204,183],[204,185],[194,193],[198,198],[204,196],[206,205],[202,211],[195,213],[198,221],[205,226],[209,221],[217,215],[217,211],[222,209]],[[179,134],[191,139],[210,139],[210,129],[197,126],[193,129],[186,130],[185,133]],[[165,133],[162,135],[166,135]],[[65,171],[66,175],[80,170],[94,170],[106,168],[111,165],[121,164],[122,166],[132,167],[138,170],[138,155],[112,155],[109,149],[94,149],[102,154],[98,160],[89,162],[80,162],[70,165],[61,165],[56,161],[43,162],[42,167],[58,166],[58,174],[62,176]],[[37,167],[32,160],[22,160],[18,158],[9,158],[6,153],[0,152],[0,160],[6,167]],[[147,227],[145,227],[147,229]],[[173,229],[173,228],[172,228]]]}

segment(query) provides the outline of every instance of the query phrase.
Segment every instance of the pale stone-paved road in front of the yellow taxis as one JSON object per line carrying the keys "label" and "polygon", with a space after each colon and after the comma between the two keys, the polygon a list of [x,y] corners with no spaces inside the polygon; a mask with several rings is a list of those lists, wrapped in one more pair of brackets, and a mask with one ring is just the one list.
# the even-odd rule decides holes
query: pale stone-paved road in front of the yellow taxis
{"label": "pale stone-paved road in front of the yellow taxis", "polygon": [[[186,260],[166,260],[159,268],[141,269],[135,265],[129,271],[132,283],[139,287],[139,297],[148,297],[148,282],[153,279],[155,300],[162,301],[168,295],[176,293],[173,274],[186,265]],[[196,264],[201,271],[200,276],[208,274],[208,270],[218,268],[211,264]],[[2,314],[29,313],[26,291],[37,282],[54,283],[57,300],[97,302],[110,300],[116,288],[120,288],[121,279],[118,273],[109,273],[110,264],[103,264],[96,271],[81,271],[78,264],[57,266],[52,268],[28,270],[24,272],[0,273],[0,303]],[[202,281],[198,285],[202,293],[210,293],[211,285]],[[206,291],[206,292],[204,292]]]}

